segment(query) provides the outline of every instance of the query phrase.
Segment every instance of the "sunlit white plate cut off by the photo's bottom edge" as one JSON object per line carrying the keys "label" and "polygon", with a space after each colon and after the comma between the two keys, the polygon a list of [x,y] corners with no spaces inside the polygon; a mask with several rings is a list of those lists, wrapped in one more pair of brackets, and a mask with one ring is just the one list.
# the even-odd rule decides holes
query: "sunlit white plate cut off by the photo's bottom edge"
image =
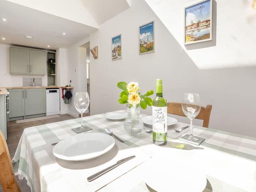
{"label": "sunlit white plate cut off by the photo's bottom edge", "polygon": [[172,162],[170,159],[150,161],[146,164],[150,174],[144,175],[144,181],[157,192],[202,192],[206,187],[205,174],[191,166],[189,161]]}

